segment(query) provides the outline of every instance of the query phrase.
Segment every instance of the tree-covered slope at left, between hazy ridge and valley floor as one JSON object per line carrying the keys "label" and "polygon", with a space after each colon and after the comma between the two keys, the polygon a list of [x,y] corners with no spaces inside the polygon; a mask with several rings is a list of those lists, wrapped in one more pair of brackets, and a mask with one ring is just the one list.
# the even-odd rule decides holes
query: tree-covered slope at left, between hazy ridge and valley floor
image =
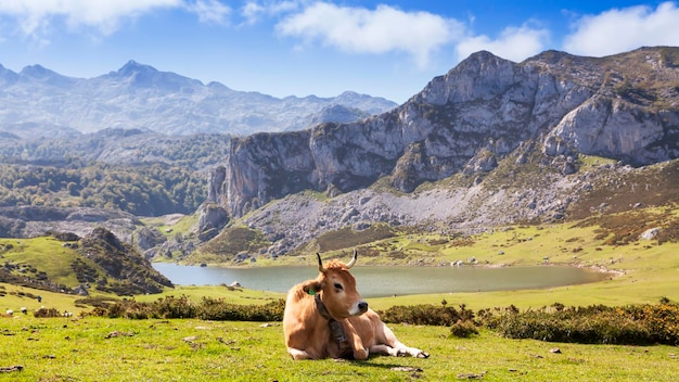
{"label": "tree-covered slope at left, between hazy ridge and valley floor", "polygon": [[190,214],[206,198],[205,176],[162,164],[0,166],[0,206],[97,207],[138,216]]}

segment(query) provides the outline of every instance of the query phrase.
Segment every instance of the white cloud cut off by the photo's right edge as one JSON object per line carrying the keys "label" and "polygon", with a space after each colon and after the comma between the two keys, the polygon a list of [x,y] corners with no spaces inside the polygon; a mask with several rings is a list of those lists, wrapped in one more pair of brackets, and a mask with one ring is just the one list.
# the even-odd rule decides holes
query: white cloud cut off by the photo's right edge
{"label": "white cloud cut off by the photo's right edge", "polygon": [[573,54],[602,56],[642,46],[676,46],[679,42],[679,9],[675,2],[613,9],[582,16],[564,39],[563,49]]}

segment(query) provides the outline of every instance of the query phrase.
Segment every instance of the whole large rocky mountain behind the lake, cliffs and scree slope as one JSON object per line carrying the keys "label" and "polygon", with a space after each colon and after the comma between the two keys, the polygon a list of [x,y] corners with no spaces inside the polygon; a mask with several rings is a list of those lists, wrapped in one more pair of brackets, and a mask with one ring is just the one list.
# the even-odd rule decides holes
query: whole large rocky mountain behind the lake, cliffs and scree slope
{"label": "whole large rocky mountain behind the lake, cliffs and scree slope", "polygon": [[207,202],[264,232],[270,255],[379,224],[581,218],[676,202],[678,135],[679,48],[522,63],[479,52],[366,120],[232,139]]}

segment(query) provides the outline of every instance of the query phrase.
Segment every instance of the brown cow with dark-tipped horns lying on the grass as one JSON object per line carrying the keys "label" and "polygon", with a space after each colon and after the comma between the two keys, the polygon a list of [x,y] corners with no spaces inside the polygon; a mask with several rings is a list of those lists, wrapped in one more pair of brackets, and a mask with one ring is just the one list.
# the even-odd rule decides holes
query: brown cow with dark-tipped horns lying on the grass
{"label": "brown cow with dark-tipped horns lying on the grass", "polygon": [[358,256],[325,267],[318,256],[319,276],[287,292],[283,328],[293,359],[366,359],[370,353],[426,358],[419,348],[403,345],[356,290],[349,269]]}

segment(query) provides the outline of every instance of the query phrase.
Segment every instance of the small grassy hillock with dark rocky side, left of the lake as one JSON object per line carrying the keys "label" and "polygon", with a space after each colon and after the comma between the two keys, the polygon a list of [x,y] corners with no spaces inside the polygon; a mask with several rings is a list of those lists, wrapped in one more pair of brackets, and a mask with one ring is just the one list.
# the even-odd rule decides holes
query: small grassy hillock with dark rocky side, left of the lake
{"label": "small grassy hillock with dark rocky side, left of the lake", "polygon": [[54,232],[37,239],[0,239],[0,282],[29,288],[31,298],[40,291],[132,295],[172,286],[132,246],[103,228],[84,238]]}

